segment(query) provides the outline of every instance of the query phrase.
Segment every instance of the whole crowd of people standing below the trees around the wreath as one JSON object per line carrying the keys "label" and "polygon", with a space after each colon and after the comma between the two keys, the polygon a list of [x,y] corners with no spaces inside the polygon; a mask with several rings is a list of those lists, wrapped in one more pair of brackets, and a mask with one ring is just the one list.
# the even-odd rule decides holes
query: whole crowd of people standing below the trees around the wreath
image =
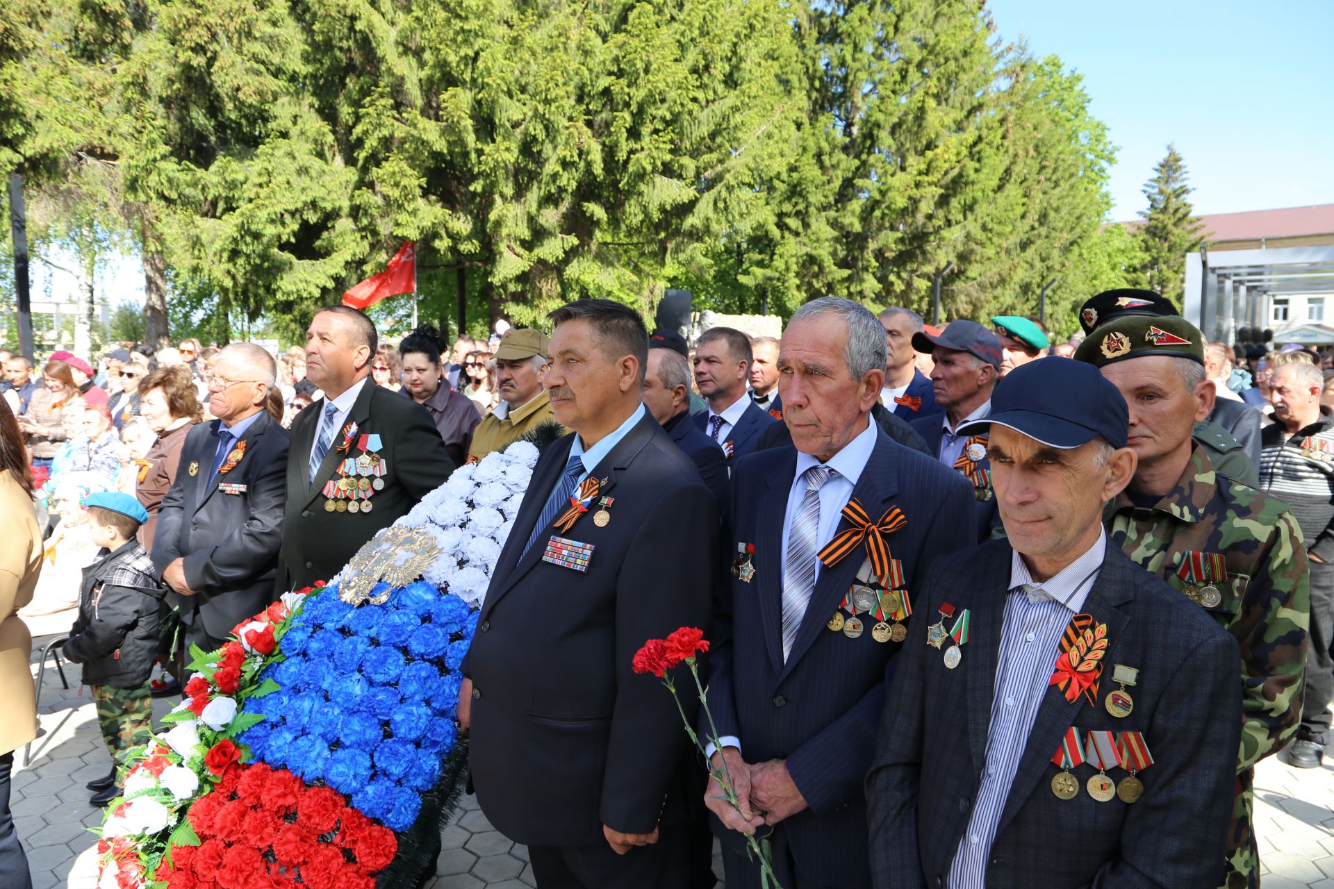
{"label": "whole crowd of people standing below the trees around the wreath", "polygon": [[[715,836],[728,886],[1258,885],[1254,765],[1329,741],[1334,355],[1239,353],[1133,289],[1066,343],[840,299],[780,337],[687,343],[604,300],[550,320],[390,347],[331,307],[280,356],[56,352],[40,380],[0,356],[0,497],[27,510],[0,749],[35,728],[20,617],[73,618],[105,804],[155,661],[179,693],[189,645],[546,425],[458,709],[539,886],[712,886]],[[707,710],[632,670],[680,626]],[[11,764],[0,872],[25,873]]]}

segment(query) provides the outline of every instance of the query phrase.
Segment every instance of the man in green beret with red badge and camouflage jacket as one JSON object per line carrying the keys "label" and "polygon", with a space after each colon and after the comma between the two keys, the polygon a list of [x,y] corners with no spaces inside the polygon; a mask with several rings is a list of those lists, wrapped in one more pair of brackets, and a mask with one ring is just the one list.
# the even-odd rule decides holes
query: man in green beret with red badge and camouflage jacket
{"label": "man in green beret with red badge and camouflage jacket", "polygon": [[1103,514],[1111,541],[1241,644],[1242,744],[1219,885],[1253,889],[1259,885],[1254,766],[1277,753],[1301,720],[1310,569],[1291,509],[1215,472],[1191,439],[1214,407],[1203,345],[1182,317],[1122,316],[1097,328],[1075,359],[1097,365],[1130,407],[1127,444],[1139,464]]}

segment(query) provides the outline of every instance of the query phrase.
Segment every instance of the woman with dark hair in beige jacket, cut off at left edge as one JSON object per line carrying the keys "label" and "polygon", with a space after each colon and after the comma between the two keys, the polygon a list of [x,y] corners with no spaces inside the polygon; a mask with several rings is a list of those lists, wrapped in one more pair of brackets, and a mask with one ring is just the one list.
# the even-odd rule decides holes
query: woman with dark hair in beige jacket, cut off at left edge
{"label": "woman with dark hair in beige jacket, cut off at left edge", "polygon": [[32,690],[32,636],[19,609],[32,601],[41,572],[41,532],[32,512],[32,472],[23,435],[8,405],[0,405],[0,874],[5,886],[31,889],[28,860],[9,812],[13,752],[37,737],[37,698]]}

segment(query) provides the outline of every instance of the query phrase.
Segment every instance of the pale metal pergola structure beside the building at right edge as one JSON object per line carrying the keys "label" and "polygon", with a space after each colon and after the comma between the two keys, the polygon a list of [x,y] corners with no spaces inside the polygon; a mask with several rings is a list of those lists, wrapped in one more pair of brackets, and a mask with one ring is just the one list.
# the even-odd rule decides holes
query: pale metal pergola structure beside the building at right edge
{"label": "pale metal pergola structure beside the building at right edge", "polygon": [[1186,255],[1182,312],[1210,340],[1234,343],[1241,327],[1269,327],[1275,296],[1334,295],[1334,245]]}

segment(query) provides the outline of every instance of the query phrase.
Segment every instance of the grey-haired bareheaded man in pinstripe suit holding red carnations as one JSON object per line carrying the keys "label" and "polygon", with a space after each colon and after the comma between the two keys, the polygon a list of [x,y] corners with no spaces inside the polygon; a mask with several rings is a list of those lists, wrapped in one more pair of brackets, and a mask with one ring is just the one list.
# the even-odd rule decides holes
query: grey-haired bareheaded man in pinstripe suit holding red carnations
{"label": "grey-haired bareheaded man in pinstripe suit holding red carnations", "polygon": [[760,874],[743,833],[771,832],[784,889],[866,886],[862,777],[886,689],[938,556],[970,545],[972,494],[955,472],[871,423],[884,332],[867,309],[819,299],[792,316],[778,357],[794,448],[734,465],[708,704],[744,800],[720,797],[730,889]]}

